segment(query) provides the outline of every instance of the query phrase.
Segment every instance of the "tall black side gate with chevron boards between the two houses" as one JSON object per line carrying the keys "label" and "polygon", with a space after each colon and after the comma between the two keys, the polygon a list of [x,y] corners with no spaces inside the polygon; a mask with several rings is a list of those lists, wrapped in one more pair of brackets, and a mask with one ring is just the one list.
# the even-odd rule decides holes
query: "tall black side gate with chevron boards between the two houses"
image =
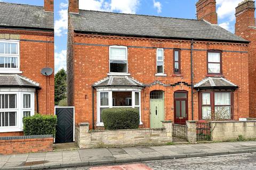
{"label": "tall black side gate with chevron boards between the two houses", "polygon": [[57,126],[55,143],[74,141],[74,107],[55,107]]}

